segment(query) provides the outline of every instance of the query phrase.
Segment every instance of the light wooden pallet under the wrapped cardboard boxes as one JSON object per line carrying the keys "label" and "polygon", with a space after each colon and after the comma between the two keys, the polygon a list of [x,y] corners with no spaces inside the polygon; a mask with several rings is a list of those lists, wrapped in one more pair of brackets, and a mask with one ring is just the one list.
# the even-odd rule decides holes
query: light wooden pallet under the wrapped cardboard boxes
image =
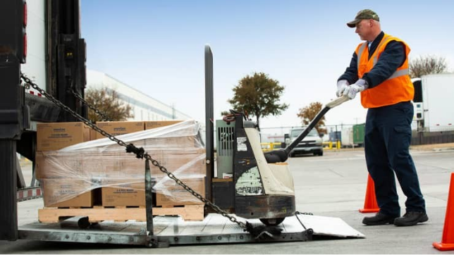
{"label": "light wooden pallet under the wrapped cardboard boxes", "polygon": [[[186,205],[172,207],[153,207],[154,216],[181,216],[183,220],[203,220],[203,205]],[[104,220],[125,221],[137,220],[146,221],[145,207],[105,207],[93,206],[91,208],[56,208],[44,207],[38,210],[38,220],[41,223],[57,223],[73,216],[87,216],[90,223]]]}

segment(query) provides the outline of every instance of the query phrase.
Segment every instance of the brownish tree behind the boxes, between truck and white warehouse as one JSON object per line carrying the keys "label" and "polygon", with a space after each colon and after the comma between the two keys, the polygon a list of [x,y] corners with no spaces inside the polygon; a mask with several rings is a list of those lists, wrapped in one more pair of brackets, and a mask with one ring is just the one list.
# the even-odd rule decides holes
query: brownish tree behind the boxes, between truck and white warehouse
{"label": "brownish tree behind the boxes, between truck and white warehouse", "polygon": [[[102,89],[87,89],[85,101],[104,113],[109,120],[121,121],[134,118],[134,114],[131,113],[132,107],[123,103],[118,97],[118,93],[113,89],[106,87]],[[90,108],[88,109],[88,119],[93,123],[104,120],[102,116],[99,116]]]}

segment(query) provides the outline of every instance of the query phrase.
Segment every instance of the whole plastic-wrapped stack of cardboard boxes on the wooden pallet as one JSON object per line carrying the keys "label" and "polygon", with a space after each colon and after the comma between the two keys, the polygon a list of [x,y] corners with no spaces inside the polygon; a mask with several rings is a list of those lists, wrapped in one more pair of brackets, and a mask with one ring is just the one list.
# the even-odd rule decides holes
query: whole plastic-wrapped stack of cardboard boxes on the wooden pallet
{"label": "whole plastic-wrapped stack of cardboard boxes on the wooden pallet", "polygon": [[[152,128],[180,121],[102,122],[97,123],[111,135],[140,132],[144,138],[133,142],[167,170],[204,195],[204,148],[195,135],[147,137]],[[64,147],[95,140],[98,133],[83,123],[46,123],[37,126],[37,178],[44,187],[44,206],[91,207],[145,206],[145,161],[125,153],[117,144],[88,149]],[[87,143],[88,144],[88,143]],[[201,204],[173,180],[166,180],[159,168],[152,166],[157,206]]]}

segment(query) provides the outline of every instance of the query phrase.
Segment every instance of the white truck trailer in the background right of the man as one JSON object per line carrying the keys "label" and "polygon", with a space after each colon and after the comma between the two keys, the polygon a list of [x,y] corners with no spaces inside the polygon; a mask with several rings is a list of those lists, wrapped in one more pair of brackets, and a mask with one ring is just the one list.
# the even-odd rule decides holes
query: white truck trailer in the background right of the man
{"label": "white truck trailer in the background right of the man", "polygon": [[454,130],[454,73],[424,75],[412,79],[415,117],[412,128],[424,132]]}

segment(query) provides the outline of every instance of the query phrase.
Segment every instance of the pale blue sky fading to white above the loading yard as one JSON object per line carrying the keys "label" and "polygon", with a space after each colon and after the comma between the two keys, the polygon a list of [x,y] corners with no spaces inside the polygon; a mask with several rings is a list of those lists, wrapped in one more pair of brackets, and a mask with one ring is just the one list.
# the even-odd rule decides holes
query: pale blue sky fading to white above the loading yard
{"label": "pale blue sky fading to white above the loading yard", "polygon": [[[336,97],[336,80],[360,38],[345,23],[378,13],[384,32],[403,39],[410,59],[443,56],[454,69],[454,1],[145,1],[81,0],[87,68],[174,105],[204,123],[204,45],[214,52],[214,113],[230,108],[232,89],[263,72],[290,104],[262,128],[300,125],[298,109]],[[326,114],[327,124],[364,123],[359,99]]]}

